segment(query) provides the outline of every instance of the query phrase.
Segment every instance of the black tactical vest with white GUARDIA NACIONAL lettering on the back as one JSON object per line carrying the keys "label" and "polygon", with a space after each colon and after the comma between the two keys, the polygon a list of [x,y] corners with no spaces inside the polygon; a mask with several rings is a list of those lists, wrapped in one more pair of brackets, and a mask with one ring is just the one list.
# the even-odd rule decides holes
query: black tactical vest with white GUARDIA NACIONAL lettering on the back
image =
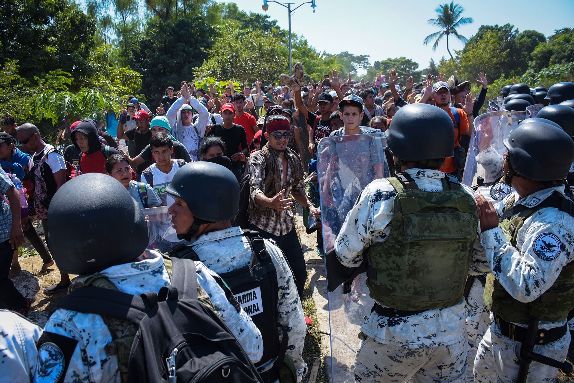
{"label": "black tactical vest with white GUARDIA NACIONAL lettering on the back", "polygon": [[[278,377],[289,343],[289,336],[285,330],[282,331],[281,341],[279,339],[281,325],[277,322],[277,270],[265,249],[263,238],[258,236],[259,233],[243,230],[243,234],[249,240],[251,247],[249,263],[241,269],[220,273],[219,276],[261,331],[263,355],[260,361],[254,364],[263,380],[273,382]],[[192,245],[174,247],[172,256],[201,261],[201,258],[193,251]],[[262,371],[261,366],[273,359],[276,359],[273,367]],[[286,362],[289,363],[289,360]]]}

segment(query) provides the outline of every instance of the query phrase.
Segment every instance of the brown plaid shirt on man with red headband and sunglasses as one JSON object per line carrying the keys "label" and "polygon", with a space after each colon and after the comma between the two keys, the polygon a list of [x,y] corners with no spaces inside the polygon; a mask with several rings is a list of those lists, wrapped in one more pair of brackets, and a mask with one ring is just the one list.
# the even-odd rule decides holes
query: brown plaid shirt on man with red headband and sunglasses
{"label": "brown plaid shirt on man with red headband and sunglasses", "polygon": [[[274,150],[269,147],[269,150]],[[293,156],[294,154],[285,152],[286,156]],[[285,169],[283,168],[283,161],[278,161],[279,167],[276,171],[279,171],[281,180],[283,179]],[[261,151],[257,151],[251,156],[249,156],[249,173],[251,175],[251,199],[255,202],[255,196],[259,193],[265,193],[265,160],[261,155]],[[289,166],[289,161],[287,162],[287,180],[286,182],[278,188],[278,191],[285,189],[285,194],[281,199],[288,198],[290,192],[297,193],[303,188],[303,183],[300,181],[297,185],[293,185],[293,169]],[[273,235],[285,235],[293,230],[295,227],[295,217],[291,209],[277,211],[272,209],[272,216],[258,216],[251,212],[251,223],[259,227],[259,229],[267,231]]]}

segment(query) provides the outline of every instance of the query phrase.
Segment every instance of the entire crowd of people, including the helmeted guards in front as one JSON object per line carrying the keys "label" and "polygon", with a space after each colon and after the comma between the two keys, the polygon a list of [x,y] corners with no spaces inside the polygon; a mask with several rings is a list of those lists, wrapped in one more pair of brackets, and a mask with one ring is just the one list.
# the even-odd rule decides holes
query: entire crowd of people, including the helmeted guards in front
{"label": "entire crowd of people, including the helmeted guards in front", "polygon": [[[494,137],[479,117],[484,73],[475,98],[455,76],[402,84],[393,70],[343,82],[332,71],[314,82],[301,63],[293,69],[280,83],[229,83],[223,94],[182,82],[155,111],[130,96],[119,114],[65,126],[58,138],[70,143],[61,149],[32,123],[3,115],[2,379],[153,381],[155,361],[164,381],[216,371],[233,381],[300,382],[312,321],[301,306],[298,205],[308,233],[317,231],[317,253],[367,272],[375,306],[358,334],[356,381],[550,382],[568,369],[574,83],[504,87],[488,113],[516,123]],[[498,139],[506,151],[486,165],[486,154],[468,155],[483,129],[481,153],[494,158]],[[347,160],[339,156],[335,176],[321,179],[319,144],[370,133],[387,147],[366,149],[372,182],[350,201],[325,255],[321,207]],[[469,158],[496,168],[497,179],[461,183]],[[156,211],[169,223],[154,222]],[[45,293],[68,292],[43,329],[25,319],[32,302],[10,280],[24,238],[41,256],[39,274],[54,264],[60,271]],[[198,351],[215,347],[219,338],[205,335],[213,328],[237,349],[222,347],[219,359]],[[217,368],[197,370],[192,359]]]}

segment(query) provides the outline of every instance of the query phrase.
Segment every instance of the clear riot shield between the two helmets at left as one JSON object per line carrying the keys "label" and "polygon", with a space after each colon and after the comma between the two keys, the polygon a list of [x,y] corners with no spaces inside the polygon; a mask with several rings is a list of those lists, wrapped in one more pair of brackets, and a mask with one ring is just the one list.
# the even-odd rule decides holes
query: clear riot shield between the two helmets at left
{"label": "clear riot shield between the two helmets at left", "polygon": [[148,249],[157,249],[162,253],[169,253],[176,246],[179,239],[172,227],[172,216],[168,213],[168,206],[150,207],[142,209],[146,222],[148,222],[149,243]]}

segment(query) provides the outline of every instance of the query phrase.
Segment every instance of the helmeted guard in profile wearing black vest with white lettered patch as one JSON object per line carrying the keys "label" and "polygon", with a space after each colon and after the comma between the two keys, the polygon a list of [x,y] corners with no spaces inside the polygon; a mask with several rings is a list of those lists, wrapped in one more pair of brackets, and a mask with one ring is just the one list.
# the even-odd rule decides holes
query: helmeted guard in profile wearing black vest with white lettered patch
{"label": "helmeted guard in profile wearing black vest with white lettered patch", "polygon": [[[172,254],[197,257],[218,273],[252,316],[263,337],[263,357],[255,366],[265,382],[277,380],[278,369],[273,367],[282,365],[284,357],[277,357],[285,354],[285,347],[294,362],[293,381],[300,382],[307,369],[302,358],[307,326],[293,274],[276,245],[231,226],[239,209],[233,173],[207,162],[185,165],[166,191],[176,199],[169,214],[178,237],[193,241]],[[269,254],[267,259],[260,259],[261,250]]]}

